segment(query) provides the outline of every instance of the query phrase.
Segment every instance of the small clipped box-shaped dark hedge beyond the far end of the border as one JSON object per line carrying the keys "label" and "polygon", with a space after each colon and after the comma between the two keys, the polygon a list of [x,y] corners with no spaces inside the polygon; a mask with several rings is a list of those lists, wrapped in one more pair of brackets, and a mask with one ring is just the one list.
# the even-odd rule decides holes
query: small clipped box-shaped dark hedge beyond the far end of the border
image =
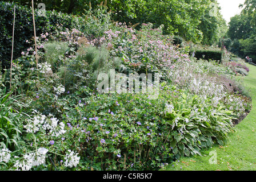
{"label": "small clipped box-shaped dark hedge beyond the far end of the border", "polygon": [[195,51],[195,57],[197,59],[204,60],[216,60],[218,63],[221,63],[222,60],[222,51],[213,51],[213,50],[197,50]]}

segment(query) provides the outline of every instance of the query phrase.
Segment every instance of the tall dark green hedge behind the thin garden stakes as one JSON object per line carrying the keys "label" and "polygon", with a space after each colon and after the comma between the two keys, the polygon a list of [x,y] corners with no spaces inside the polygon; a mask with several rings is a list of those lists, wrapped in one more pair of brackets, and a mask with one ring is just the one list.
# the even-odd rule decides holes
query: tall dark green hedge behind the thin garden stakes
{"label": "tall dark green hedge behind the thin garden stakes", "polygon": [[[32,10],[30,7],[15,7],[15,30],[14,30],[14,54],[13,59],[21,57],[21,52],[29,48],[26,40],[34,36]],[[0,62],[2,68],[10,68],[11,44],[13,36],[13,15],[14,3],[0,2]],[[35,27],[37,36],[43,32],[54,32],[57,24],[61,29],[81,28],[77,16],[57,13],[56,11],[46,11],[46,16],[38,16],[35,10]]]}

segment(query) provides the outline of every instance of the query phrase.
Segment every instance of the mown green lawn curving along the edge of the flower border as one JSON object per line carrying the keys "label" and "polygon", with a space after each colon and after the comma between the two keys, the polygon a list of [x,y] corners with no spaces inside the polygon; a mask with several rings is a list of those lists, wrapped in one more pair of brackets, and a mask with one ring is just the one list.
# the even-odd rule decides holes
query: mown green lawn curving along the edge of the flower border
{"label": "mown green lawn curving along the edge of the flower border", "polygon": [[[256,170],[256,67],[249,64],[247,67],[250,72],[244,83],[253,100],[253,108],[247,117],[235,126],[236,132],[229,134],[228,142],[224,146],[215,144],[202,151],[202,156],[182,157],[160,171]],[[217,159],[216,164],[213,163],[214,158]]]}

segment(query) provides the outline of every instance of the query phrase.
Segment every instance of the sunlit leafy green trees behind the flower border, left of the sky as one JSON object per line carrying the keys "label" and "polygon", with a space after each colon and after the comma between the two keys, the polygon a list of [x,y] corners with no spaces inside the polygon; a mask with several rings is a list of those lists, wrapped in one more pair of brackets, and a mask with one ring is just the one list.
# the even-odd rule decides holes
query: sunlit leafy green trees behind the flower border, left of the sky
{"label": "sunlit leafy green trees behind the flower border, left of the sky", "polygon": [[[25,0],[14,2],[28,6],[31,3]],[[76,15],[85,14],[90,7],[97,9],[102,3],[114,12],[114,21],[131,24],[150,22],[154,28],[163,24],[163,34],[179,35],[195,43],[210,45],[218,42],[221,27],[225,26],[216,0],[45,0],[43,3],[46,10]]]}

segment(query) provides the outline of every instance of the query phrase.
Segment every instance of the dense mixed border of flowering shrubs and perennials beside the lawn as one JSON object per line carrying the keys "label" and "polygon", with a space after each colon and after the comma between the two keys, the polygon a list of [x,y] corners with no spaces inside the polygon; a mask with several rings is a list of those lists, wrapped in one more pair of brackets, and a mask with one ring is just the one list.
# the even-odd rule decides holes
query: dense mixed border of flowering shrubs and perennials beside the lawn
{"label": "dense mixed border of flowering shrubs and perennials beside the lawn", "polygon": [[[14,60],[11,88],[10,69],[0,77],[1,169],[158,169],[222,146],[233,119],[250,110],[234,78],[246,75],[237,71],[246,71],[243,64],[231,65],[226,54],[221,64],[197,60],[186,42],[174,46],[172,36],[162,35],[163,26],[107,24],[97,34],[95,27],[42,32],[38,69],[31,46]],[[110,69],[123,77],[158,74],[157,99],[125,93],[127,85],[121,93],[99,93],[99,73],[112,77]]]}

